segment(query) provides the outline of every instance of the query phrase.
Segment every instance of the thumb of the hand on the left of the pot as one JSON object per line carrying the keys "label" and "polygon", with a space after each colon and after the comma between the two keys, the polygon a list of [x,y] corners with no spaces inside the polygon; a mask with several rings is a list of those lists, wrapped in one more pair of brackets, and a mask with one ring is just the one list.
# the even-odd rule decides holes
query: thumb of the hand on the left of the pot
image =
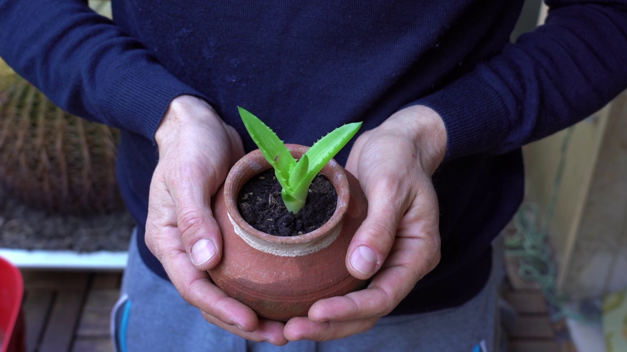
{"label": "thumb of the hand on the left of the pot", "polygon": [[216,266],[222,251],[222,236],[211,212],[211,190],[206,180],[191,175],[171,184],[181,242],[192,264],[202,271]]}

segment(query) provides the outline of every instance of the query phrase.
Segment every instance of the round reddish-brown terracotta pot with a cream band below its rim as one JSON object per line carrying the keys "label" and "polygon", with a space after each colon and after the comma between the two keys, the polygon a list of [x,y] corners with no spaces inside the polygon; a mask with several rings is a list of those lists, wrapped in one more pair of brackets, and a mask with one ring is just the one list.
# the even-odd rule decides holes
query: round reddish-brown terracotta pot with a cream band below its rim
{"label": "round reddish-brown terracotta pot with a cream band below its rim", "polygon": [[[307,151],[287,145],[295,158]],[[223,236],[223,256],[209,271],[216,285],[263,318],[287,321],[307,316],[319,299],[343,296],[365,281],[351,276],[346,252],[366,219],[367,201],[359,181],[335,160],[322,169],[337,192],[331,219],[307,234],[279,237],[256,230],[241,217],[236,204],[241,187],[268,170],[260,150],[248,153],[229,172],[214,197],[213,211]]]}

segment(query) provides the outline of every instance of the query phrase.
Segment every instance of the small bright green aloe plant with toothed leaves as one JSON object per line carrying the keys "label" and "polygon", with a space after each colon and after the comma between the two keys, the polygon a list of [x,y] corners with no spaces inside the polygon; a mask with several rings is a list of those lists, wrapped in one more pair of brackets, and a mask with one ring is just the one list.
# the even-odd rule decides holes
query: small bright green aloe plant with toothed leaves
{"label": "small bright green aloe plant with toothed leaves", "polygon": [[283,141],[246,109],[238,107],[246,130],[259,147],[263,156],[275,169],[277,180],[281,184],[281,197],[287,210],[297,214],[307,200],[309,186],[329,160],[349,142],[361,122],[349,123],[335,128],[333,132],[320,138],[309,150],[296,161]]}

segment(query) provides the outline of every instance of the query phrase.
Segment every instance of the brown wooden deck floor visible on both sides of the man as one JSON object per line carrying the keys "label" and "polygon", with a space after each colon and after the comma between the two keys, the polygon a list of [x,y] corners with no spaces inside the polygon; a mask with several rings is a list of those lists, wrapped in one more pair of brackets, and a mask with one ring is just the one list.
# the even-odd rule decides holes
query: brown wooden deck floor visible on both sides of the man
{"label": "brown wooden deck floor visible on both sides of the man", "polygon": [[[514,272],[508,270],[508,272]],[[24,316],[28,352],[110,352],[109,314],[121,274],[25,271]],[[510,279],[504,298],[518,320],[508,338],[510,352],[574,352],[552,323],[539,289]]]}

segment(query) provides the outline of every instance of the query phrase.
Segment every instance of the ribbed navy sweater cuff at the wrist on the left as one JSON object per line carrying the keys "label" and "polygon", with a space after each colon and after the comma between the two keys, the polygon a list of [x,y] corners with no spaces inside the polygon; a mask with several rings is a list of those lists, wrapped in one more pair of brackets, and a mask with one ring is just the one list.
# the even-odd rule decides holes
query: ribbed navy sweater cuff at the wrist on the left
{"label": "ribbed navy sweater cuff at the wrist on the left", "polygon": [[179,95],[206,98],[154,63],[129,69],[107,92],[104,113],[110,125],[152,140],[170,102]]}

